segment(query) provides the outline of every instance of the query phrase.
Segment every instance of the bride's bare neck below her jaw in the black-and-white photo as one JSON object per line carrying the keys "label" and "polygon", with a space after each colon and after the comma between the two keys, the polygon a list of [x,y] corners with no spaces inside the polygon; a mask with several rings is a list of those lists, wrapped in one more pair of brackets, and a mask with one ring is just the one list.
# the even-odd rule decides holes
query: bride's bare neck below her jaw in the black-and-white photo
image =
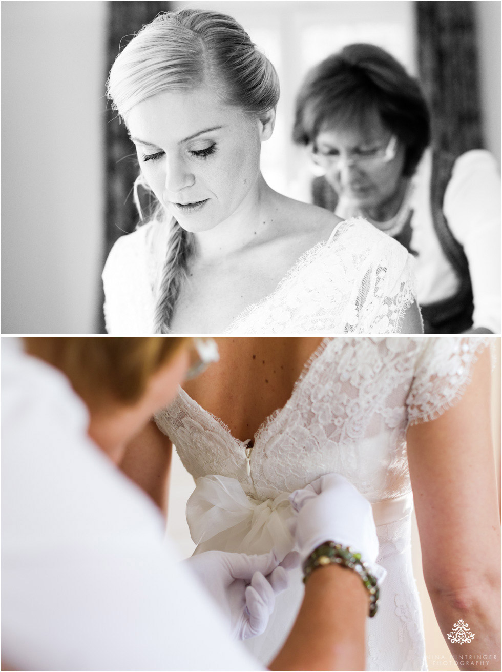
{"label": "bride's bare neck below her jaw in the black-and-white photo", "polygon": [[194,234],[197,259],[211,263],[262,241],[274,225],[274,204],[279,198],[259,173],[256,183],[230,217],[209,231]]}

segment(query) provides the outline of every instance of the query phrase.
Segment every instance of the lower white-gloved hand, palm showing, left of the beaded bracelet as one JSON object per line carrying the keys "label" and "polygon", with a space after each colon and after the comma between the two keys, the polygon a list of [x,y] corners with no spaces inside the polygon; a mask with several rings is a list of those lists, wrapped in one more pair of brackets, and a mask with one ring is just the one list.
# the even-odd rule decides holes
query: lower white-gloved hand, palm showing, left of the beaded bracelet
{"label": "lower white-gloved hand, palm showing, left of the beaded bracelet", "polygon": [[274,552],[263,555],[209,550],[184,560],[230,622],[235,639],[249,639],[264,632],[275,605],[275,596],[288,585],[288,569],[298,564],[289,553],[279,564]]}

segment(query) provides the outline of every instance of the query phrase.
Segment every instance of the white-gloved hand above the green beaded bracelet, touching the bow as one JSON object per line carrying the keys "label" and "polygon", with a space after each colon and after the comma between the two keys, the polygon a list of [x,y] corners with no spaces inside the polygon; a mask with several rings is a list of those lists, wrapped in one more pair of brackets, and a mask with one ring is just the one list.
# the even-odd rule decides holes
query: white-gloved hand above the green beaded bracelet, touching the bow
{"label": "white-gloved hand above the green beaded bracelet, touching the bow", "polygon": [[291,532],[302,562],[325,541],[351,546],[361,554],[370,572],[383,581],[386,571],[376,564],[379,540],[370,503],[340,474],[320,476],[289,496],[297,516]]}

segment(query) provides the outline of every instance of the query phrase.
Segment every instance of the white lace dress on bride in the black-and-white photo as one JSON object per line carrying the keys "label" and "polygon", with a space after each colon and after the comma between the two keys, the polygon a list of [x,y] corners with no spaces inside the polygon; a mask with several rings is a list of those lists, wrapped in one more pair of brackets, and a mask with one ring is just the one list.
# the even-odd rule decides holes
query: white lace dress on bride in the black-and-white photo
{"label": "white lace dress on bride in the black-and-white photo", "polygon": [[[111,249],[103,270],[109,334],[153,333],[167,235],[166,224],[152,222]],[[366,220],[340,222],[223,333],[399,333],[416,296],[413,263],[402,245]]]}

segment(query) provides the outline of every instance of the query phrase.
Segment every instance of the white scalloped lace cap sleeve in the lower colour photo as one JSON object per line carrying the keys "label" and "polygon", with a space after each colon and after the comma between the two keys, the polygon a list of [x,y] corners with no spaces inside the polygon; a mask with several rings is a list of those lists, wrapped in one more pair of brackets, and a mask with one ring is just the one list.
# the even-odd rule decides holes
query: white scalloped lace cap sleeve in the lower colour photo
{"label": "white scalloped lace cap sleeve in the lower colour photo", "polygon": [[409,425],[440,417],[462,398],[472,366],[490,339],[436,337],[421,341],[406,402]]}

